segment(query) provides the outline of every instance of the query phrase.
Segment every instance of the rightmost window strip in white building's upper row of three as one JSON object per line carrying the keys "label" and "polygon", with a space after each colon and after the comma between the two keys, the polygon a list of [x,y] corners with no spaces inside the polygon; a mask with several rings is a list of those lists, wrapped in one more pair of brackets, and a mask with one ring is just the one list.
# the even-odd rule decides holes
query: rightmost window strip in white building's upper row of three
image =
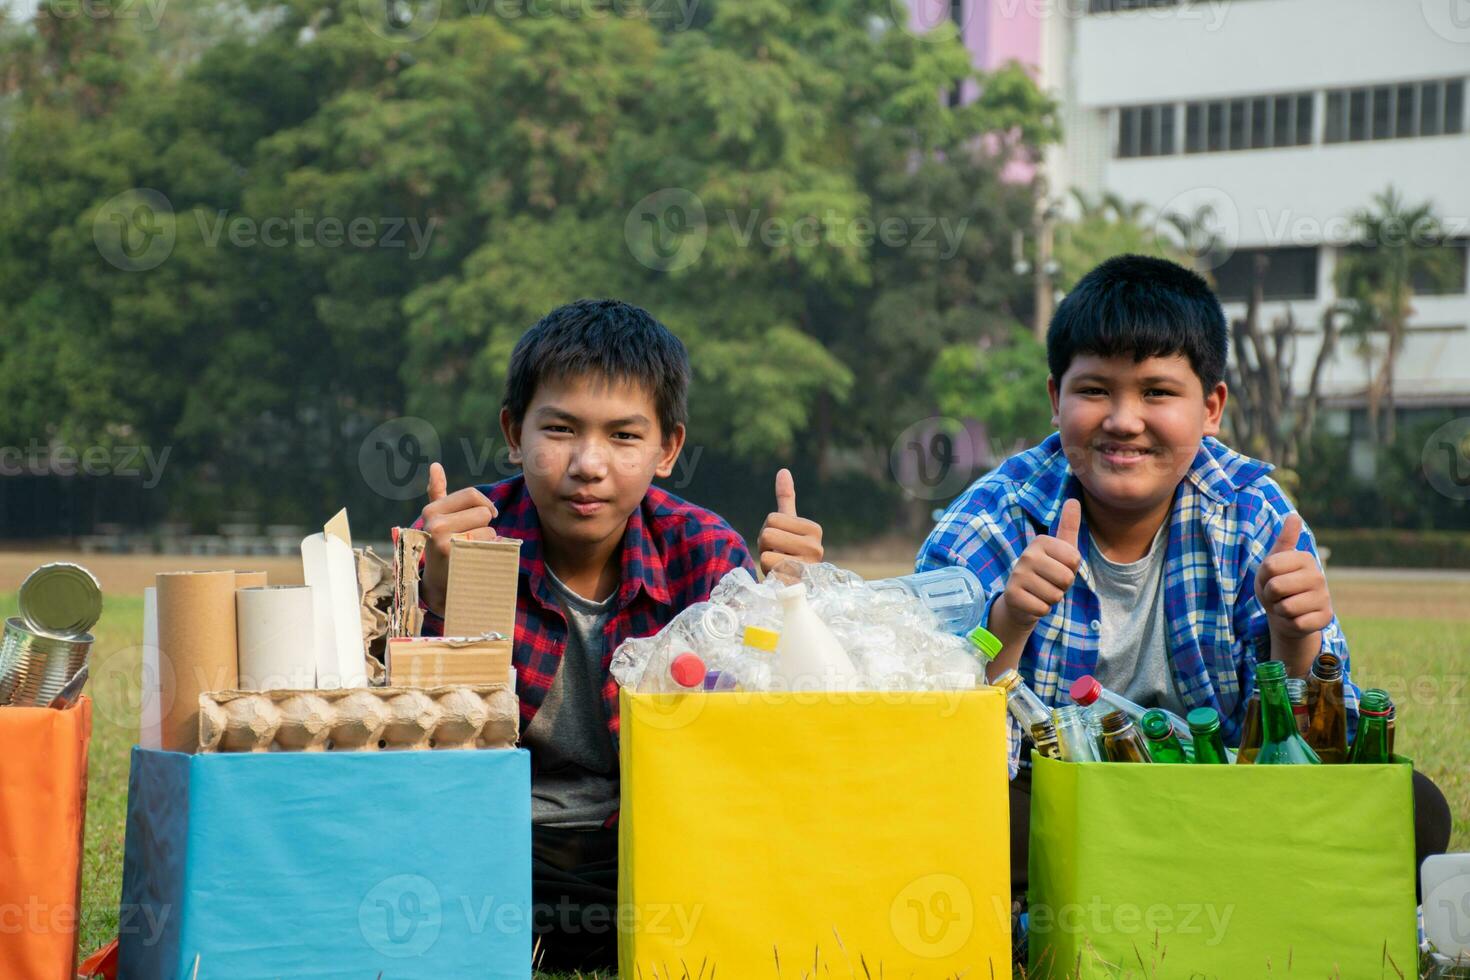
{"label": "rightmost window strip in white building's upper row of three", "polygon": [[1327,93],[1326,143],[1464,132],[1463,78]]}

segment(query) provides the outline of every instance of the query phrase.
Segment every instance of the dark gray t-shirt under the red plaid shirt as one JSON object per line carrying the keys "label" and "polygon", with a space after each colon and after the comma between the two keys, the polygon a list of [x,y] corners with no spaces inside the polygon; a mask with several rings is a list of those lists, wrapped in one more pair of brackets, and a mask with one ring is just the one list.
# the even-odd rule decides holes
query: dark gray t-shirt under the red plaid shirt
{"label": "dark gray t-shirt under the red plaid shirt", "polygon": [[567,635],[551,691],[520,739],[531,749],[531,823],[588,830],[617,810],[617,749],[603,708],[603,627],[617,594],[592,602],[550,569],[547,582],[566,614]]}

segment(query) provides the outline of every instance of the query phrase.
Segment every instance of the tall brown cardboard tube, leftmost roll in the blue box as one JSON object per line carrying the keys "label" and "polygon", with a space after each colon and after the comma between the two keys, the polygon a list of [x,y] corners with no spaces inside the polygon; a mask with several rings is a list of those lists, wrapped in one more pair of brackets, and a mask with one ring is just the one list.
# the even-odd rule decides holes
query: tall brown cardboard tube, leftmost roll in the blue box
{"label": "tall brown cardboard tube, leftmost roll in the blue box", "polygon": [[193,752],[198,748],[198,695],[240,685],[235,573],[160,572],[157,589],[163,748]]}

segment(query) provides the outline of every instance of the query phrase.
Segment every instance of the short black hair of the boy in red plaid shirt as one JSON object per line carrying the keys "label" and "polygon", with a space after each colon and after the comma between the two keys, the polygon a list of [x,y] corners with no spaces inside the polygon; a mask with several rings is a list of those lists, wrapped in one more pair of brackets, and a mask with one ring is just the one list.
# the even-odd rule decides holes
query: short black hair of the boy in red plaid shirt
{"label": "short black hair of the boy in red plaid shirt", "polygon": [[648,310],[620,300],[578,300],[537,320],[510,354],[501,404],[520,425],[538,383],[584,375],[647,388],[664,436],[688,420],[689,354],[684,342]]}

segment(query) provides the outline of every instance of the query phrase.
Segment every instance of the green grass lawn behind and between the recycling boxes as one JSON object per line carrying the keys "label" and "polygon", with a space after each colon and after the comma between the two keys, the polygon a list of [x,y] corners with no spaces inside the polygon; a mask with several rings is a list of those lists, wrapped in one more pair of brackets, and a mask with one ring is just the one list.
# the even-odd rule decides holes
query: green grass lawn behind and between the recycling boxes
{"label": "green grass lawn behind and between the recycling boxes", "polygon": [[[1398,704],[1399,751],[1444,789],[1455,813],[1451,849],[1470,849],[1470,602],[1466,586],[1444,601],[1424,602],[1439,583],[1333,585],[1352,648],[1352,676],[1363,686],[1388,688]],[[1402,591],[1402,601],[1383,601]],[[1419,599],[1414,604],[1413,599]],[[15,614],[15,595],[0,595],[0,613]],[[137,741],[138,663],[143,599],[112,592],[97,630],[87,854],[82,879],[81,948],[116,934],[122,886],[128,752]],[[544,976],[544,974],[542,974]]]}

